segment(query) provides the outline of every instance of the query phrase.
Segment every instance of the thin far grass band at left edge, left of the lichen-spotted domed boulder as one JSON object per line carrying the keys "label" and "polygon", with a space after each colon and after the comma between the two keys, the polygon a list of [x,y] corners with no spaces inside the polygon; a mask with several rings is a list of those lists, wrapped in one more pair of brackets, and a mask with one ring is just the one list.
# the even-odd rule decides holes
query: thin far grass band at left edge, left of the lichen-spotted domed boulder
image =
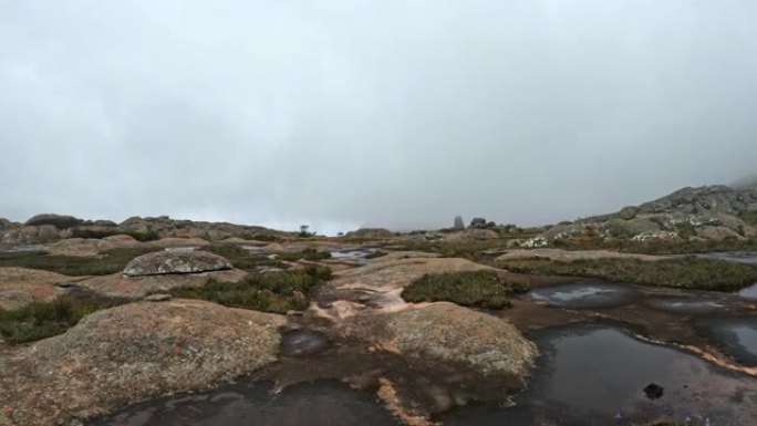
{"label": "thin far grass band at left edge, left of the lichen-spotted domed boulder", "polygon": [[160,250],[153,247],[129,247],[104,251],[96,258],[49,256],[44,251],[0,253],[0,268],[40,269],[71,277],[107,276],[121,272],[126,263],[142,254]]}

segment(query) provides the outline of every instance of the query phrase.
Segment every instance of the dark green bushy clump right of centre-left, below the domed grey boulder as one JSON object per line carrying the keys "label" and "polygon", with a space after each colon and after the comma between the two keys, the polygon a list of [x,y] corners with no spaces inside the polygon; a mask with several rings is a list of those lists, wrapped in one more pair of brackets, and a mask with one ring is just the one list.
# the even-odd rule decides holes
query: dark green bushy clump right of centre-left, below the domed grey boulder
{"label": "dark green bushy clump right of centre-left, below the domed grey boulder", "polygon": [[177,298],[203,299],[225,306],[287,313],[310,305],[310,294],[331,278],[331,269],[311,266],[304,270],[252,273],[238,282],[208,280],[200,288],[176,288]]}

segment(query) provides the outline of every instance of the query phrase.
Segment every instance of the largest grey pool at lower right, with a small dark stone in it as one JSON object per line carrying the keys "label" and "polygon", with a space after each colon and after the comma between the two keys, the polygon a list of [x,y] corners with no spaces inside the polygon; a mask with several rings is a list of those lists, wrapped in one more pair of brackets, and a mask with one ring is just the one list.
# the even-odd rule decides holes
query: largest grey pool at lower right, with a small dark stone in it
{"label": "largest grey pool at lower right, with a small dark stone in it", "polygon": [[[757,424],[757,381],[687,353],[592,325],[529,335],[542,351],[529,389],[515,407],[468,406],[445,425],[643,425],[687,416],[712,425]],[[645,388],[661,386],[662,396]],[[620,414],[616,419],[615,416]]]}

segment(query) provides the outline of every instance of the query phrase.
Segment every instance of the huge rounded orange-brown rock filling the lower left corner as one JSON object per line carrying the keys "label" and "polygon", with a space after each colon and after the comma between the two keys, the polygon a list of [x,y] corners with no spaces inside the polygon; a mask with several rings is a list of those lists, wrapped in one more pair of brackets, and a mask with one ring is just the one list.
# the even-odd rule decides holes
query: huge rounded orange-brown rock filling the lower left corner
{"label": "huge rounded orange-brown rock filling the lower left corner", "polygon": [[189,300],[95,312],[65,334],[0,357],[0,424],[71,424],[207,388],[276,361],[283,323],[281,315]]}

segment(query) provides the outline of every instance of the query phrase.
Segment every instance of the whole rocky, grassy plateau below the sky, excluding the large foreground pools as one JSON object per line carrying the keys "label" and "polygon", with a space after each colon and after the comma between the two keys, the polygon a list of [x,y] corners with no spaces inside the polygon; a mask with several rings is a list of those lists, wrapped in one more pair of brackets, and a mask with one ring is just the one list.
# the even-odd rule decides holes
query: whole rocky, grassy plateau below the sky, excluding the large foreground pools
{"label": "whole rocky, grassy plateau below the sky, excluding the large foreground pools", "polygon": [[[740,401],[722,418],[754,419],[757,352],[738,333],[753,330],[757,270],[675,250],[751,243],[756,211],[757,188],[705,187],[533,229],[456,218],[438,231],[317,238],[167,217],[0,220],[0,425],[83,425],[236,380],[277,392],[335,380],[403,424],[433,425],[471,402],[505,409],[530,395],[559,355],[532,333],[575,324],[623,328],[720,368],[709,394]],[[628,250],[636,243],[672,246]],[[418,282],[445,297],[403,299]],[[506,303],[470,308],[460,289]],[[691,392],[663,402],[702,404]],[[558,424],[543,404],[537,395],[539,424]]]}

